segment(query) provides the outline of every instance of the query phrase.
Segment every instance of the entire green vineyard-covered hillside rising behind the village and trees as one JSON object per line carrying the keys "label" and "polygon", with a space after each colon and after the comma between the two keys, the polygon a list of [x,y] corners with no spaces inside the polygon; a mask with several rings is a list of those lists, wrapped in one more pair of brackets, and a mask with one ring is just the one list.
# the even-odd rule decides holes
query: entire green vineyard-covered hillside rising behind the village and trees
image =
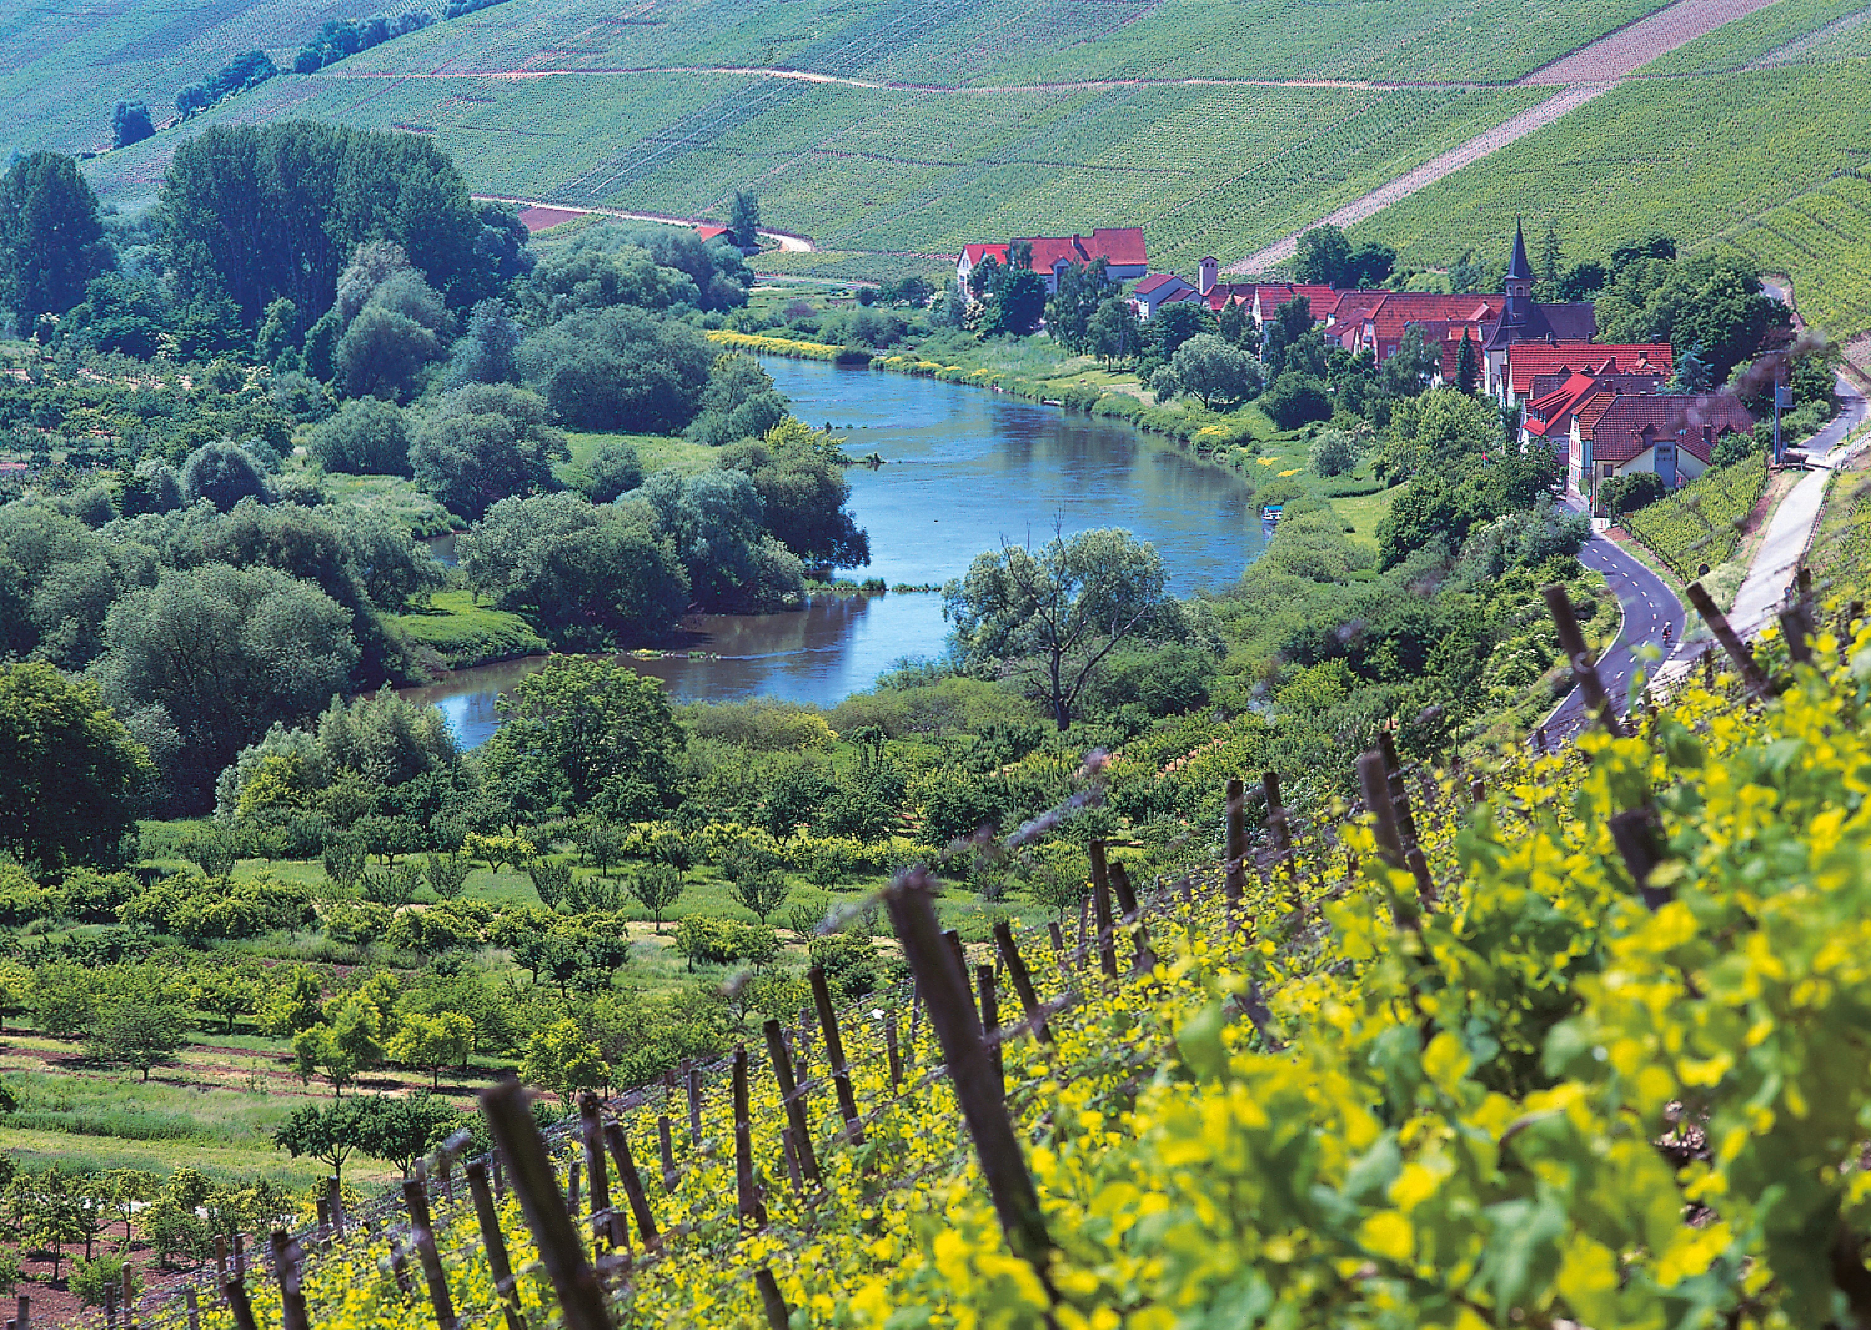
{"label": "entire green vineyard-covered hillside rising behind the village and trees", "polygon": [[[700,217],[752,187],[769,224],[821,251],[763,260],[778,269],[892,277],[982,236],[1134,223],[1156,267],[1190,271],[1542,103],[1551,86],[1514,80],[1660,7],[509,0],[279,77],[88,170],[131,206],[153,195],[180,135],[311,116],[434,135],[486,195]],[[168,105],[170,84],[241,43],[288,60],[318,17],[204,9],[131,86],[114,64],[79,69],[105,41],[101,13],[95,32],[77,19],[54,32],[22,9],[15,30],[43,34],[49,52],[0,88],[21,92],[36,142],[84,146],[110,97]],[[1867,17],[1854,0],[1736,17],[1356,230],[1416,264],[1450,262],[1521,213],[1551,221],[1572,260],[1645,230],[1719,239],[1785,267],[1835,333],[1871,327],[1856,176]],[[120,45],[137,26],[110,22]]]}

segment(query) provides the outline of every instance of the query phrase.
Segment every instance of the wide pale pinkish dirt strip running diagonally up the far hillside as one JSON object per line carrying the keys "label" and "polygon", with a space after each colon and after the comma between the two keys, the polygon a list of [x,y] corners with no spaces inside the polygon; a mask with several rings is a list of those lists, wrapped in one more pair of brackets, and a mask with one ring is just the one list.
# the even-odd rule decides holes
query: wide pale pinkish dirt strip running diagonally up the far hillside
{"label": "wide pale pinkish dirt strip running diagonally up the far hillside", "polygon": [[[1459,148],[1450,148],[1441,157],[1416,166],[1392,180],[1386,185],[1379,185],[1362,198],[1355,198],[1338,211],[1321,217],[1313,226],[1330,223],[1334,226],[1349,226],[1360,223],[1400,198],[1409,198],[1418,189],[1428,189],[1443,176],[1450,176],[1463,166],[1480,161],[1491,152],[1506,148],[1517,138],[1525,138],[1534,129],[1542,129],[1568,110],[1583,107],[1592,97],[1617,88],[1620,80],[1628,79],[1632,73],[1650,64],[1667,51],[1695,41],[1697,37],[1714,32],[1725,22],[1733,22],[1755,9],[1764,9],[1774,0],[1678,0],[1667,9],[1652,13],[1648,19],[1639,19],[1637,22],[1618,28],[1617,32],[1592,41],[1570,56],[1560,56],[1544,69],[1521,79],[1521,86],[1544,88],[1559,86],[1564,92],[1547,97],[1538,107],[1523,110],[1512,120],[1504,120],[1493,129],[1476,135]],[[1306,228],[1310,230],[1310,228]],[[1298,249],[1298,236],[1295,232],[1285,239],[1269,245],[1267,249],[1248,254],[1246,258],[1229,264],[1229,273],[1265,273],[1274,264],[1284,264],[1293,258]]]}

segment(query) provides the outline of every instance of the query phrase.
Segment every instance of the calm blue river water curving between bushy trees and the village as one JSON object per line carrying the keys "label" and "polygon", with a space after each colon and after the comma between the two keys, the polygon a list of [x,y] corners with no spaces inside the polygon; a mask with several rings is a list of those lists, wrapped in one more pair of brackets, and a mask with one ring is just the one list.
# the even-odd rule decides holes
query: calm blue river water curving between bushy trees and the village
{"label": "calm blue river water curving between bushy trees and the village", "polygon": [[[960,576],[982,550],[1121,526],[1154,542],[1171,587],[1220,587],[1261,552],[1248,486],[1119,421],[1066,415],[977,387],[814,361],[765,361],[793,413],[849,436],[846,451],[885,466],[848,468],[851,513],[870,531],[870,565],[840,572],[894,585]],[[773,696],[833,705],[902,657],[943,647],[941,597],[819,597],[791,614],[705,614],[687,621],[718,658],[621,660],[679,701]],[[462,743],[485,743],[500,690],[543,657],[460,670],[402,696],[438,703]]]}

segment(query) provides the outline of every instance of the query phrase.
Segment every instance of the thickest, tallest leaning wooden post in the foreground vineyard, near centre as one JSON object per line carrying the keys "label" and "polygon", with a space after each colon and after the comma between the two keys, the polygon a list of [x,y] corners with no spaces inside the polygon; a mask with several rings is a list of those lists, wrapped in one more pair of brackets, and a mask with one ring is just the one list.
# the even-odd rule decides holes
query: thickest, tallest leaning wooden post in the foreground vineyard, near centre
{"label": "thickest, tallest leaning wooden post in the foreground vineyard, near centre", "polygon": [[988,1061],[975,1005],[967,997],[967,971],[954,963],[952,952],[941,941],[928,874],[921,870],[902,874],[883,892],[883,900],[915,971],[917,988],[928,1003],[956,1102],[975,1141],[980,1171],[988,1178],[994,1210],[1014,1253],[1029,1261],[1050,1289],[1046,1270],[1052,1261],[1052,1238],[1046,1235],[1038,1192],[1033,1188],[1025,1156],[1020,1152],[1020,1137],[1007,1115],[1007,1100],[1001,1098]]}

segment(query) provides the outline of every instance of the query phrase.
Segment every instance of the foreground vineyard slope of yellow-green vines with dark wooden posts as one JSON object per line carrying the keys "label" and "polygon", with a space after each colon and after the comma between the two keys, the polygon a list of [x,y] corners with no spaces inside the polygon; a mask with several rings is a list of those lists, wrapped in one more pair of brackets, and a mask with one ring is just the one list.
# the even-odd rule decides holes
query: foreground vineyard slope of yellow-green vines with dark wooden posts
{"label": "foreground vineyard slope of yellow-green vines with dark wooden posts", "polygon": [[1871,625],[1783,623],[1635,731],[1366,754],[1351,823],[1269,778],[1250,844],[1231,784],[1224,870],[1141,900],[1100,842],[1074,945],[964,954],[907,874],[913,991],[816,982],[544,1137],[490,1091],[464,1178],[458,1139],[137,1324],[1862,1319],[1871,696],[1832,662]]}

